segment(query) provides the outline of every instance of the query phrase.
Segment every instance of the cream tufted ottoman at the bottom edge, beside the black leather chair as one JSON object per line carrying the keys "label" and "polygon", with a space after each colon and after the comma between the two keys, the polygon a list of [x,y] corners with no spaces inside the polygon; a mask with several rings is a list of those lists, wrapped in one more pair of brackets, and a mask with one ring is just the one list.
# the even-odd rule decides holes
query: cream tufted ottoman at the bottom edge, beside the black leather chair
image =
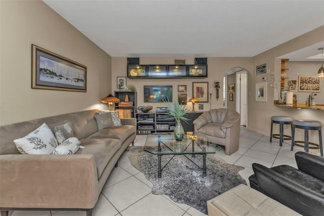
{"label": "cream tufted ottoman at the bottom edge, beside the black leather chair", "polygon": [[207,201],[208,215],[301,215],[246,185]]}

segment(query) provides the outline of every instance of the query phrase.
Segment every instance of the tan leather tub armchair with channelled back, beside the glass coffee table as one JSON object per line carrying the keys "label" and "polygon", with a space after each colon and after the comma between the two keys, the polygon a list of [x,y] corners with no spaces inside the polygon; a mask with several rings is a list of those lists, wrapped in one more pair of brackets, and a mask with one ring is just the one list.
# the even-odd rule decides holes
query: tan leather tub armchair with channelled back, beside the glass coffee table
{"label": "tan leather tub armchair with channelled back, beside the glass coffee table", "polygon": [[228,109],[214,109],[193,121],[194,132],[207,135],[212,142],[225,146],[225,154],[238,150],[240,115]]}

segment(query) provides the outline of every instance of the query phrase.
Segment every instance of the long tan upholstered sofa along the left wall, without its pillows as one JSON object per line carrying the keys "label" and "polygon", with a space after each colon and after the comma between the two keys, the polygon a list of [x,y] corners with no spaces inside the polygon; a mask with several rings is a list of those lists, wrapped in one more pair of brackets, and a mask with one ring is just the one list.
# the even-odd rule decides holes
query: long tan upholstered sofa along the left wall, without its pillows
{"label": "long tan upholstered sofa along the left wall, without its pillows", "polygon": [[[119,157],[136,137],[136,119],[98,131],[98,110],[63,114],[0,127],[0,210],[85,210],[92,215]],[[46,123],[71,122],[80,140],[73,155],[21,154],[13,140]]]}

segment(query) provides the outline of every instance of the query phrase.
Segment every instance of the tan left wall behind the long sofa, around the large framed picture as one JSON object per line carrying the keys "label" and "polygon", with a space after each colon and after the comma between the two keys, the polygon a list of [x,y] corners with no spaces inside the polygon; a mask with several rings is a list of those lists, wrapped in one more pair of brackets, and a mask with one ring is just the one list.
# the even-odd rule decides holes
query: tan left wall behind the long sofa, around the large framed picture
{"label": "tan left wall behind the long sofa, around the large framed picture", "polygon": [[[0,1],[0,124],[107,109],[111,57],[42,1]],[[87,92],[31,89],[31,44],[87,66]]]}

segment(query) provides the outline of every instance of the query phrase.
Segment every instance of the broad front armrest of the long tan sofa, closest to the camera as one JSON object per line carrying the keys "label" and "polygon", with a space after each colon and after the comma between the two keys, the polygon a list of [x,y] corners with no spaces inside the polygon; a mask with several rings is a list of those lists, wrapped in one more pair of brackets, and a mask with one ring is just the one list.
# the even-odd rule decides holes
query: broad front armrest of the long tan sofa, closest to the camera
{"label": "broad front armrest of the long tan sofa, closest to the camera", "polygon": [[0,207],[91,209],[99,196],[93,155],[0,155]]}

